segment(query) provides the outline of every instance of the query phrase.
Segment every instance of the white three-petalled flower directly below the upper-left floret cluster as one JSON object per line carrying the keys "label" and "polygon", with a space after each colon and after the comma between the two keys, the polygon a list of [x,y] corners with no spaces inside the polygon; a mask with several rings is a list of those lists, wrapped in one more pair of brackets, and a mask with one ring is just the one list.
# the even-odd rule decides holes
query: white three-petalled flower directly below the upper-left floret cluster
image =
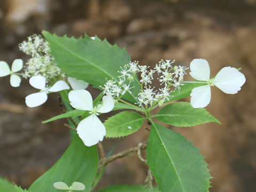
{"label": "white three-petalled flower directly below the upper-left floret cluster", "polygon": [[69,86],[65,81],[58,81],[53,86],[47,87],[46,78],[43,76],[33,76],[29,79],[29,83],[40,91],[38,93],[30,94],[25,98],[25,102],[28,107],[37,107],[42,105],[47,100],[48,93],[69,89]]}

